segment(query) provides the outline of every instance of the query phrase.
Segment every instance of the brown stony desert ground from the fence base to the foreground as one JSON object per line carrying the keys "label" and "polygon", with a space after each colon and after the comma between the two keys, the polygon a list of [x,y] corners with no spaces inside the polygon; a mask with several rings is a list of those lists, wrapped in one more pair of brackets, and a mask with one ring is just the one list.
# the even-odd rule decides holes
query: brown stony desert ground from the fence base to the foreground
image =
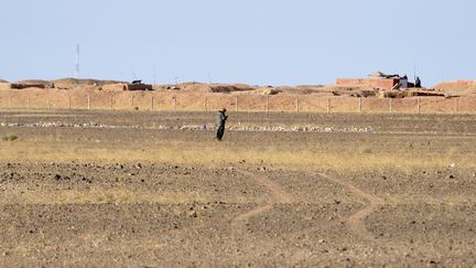
{"label": "brown stony desert ground from the fence base to the foreground", "polygon": [[474,267],[476,116],[2,110],[1,267]]}

